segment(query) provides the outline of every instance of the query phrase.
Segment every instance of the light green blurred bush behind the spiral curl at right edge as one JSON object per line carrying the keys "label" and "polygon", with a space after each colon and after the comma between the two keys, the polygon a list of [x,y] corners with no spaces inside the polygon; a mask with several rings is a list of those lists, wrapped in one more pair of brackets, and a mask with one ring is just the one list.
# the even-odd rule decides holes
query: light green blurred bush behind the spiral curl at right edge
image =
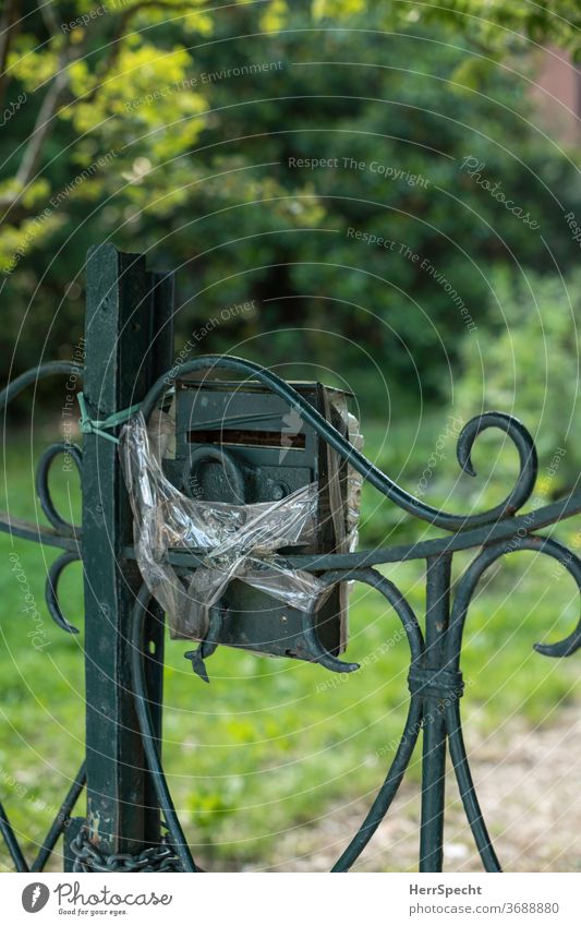
{"label": "light green blurred bush behind the spiral curl at right edge", "polygon": [[[540,456],[536,501],[548,503],[578,488],[581,473],[581,273],[567,280],[505,273],[492,286],[498,321],[481,333],[479,351],[463,350],[456,410],[469,418],[501,408],[521,418]],[[497,461],[500,482],[507,466]]]}

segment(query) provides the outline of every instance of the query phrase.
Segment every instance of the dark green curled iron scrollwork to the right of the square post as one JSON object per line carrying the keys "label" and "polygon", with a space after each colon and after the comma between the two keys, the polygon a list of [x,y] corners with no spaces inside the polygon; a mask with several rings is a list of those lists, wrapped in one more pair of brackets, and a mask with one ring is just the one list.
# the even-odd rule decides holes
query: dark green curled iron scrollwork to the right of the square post
{"label": "dark green curled iron scrollwork to the right of the square post", "polygon": [[[436,741],[431,745],[431,748],[434,747],[434,751],[437,751],[441,765],[446,742],[449,743],[452,765],[458,779],[464,810],[484,866],[491,871],[500,870],[476,799],[462,738],[459,707],[459,699],[463,690],[463,682],[460,673],[462,628],[468,606],[482,574],[504,554],[515,552],[516,550],[535,550],[553,556],[568,569],[581,589],[581,562],[579,558],[557,541],[534,533],[540,527],[555,524],[564,517],[570,517],[581,510],[581,493],[570,496],[564,503],[557,503],[556,505],[546,506],[541,509],[537,508],[533,515],[516,518],[515,516],[531,497],[535,486],[537,474],[536,449],[532,436],[518,419],[501,412],[486,412],[473,418],[462,429],[457,445],[458,461],[464,472],[475,476],[471,460],[472,447],[483,431],[495,428],[504,432],[517,448],[520,469],[516,483],[504,502],[487,512],[465,516],[441,512],[414,498],[394,483],[385,473],[380,472],[367,460],[363,454],[352,447],[328,421],[304,401],[301,395],[271,371],[238,358],[204,357],[193,360],[178,370],[173,370],[172,375],[184,376],[208,369],[235,370],[237,372],[252,375],[263,384],[268,385],[277,395],[285,398],[291,408],[298,410],[301,417],[325,441],[343,458],[348,459],[351,466],[389,500],[413,516],[452,532],[451,537],[444,537],[439,540],[413,543],[387,550],[363,551],[350,554],[327,554],[311,557],[287,557],[287,562],[292,566],[313,570],[326,569],[327,572],[323,577],[326,584],[332,585],[334,582],[354,579],[376,588],[396,610],[406,628],[410,645],[409,683],[411,699],[399,747],[384,784],[365,820],[332,870],[344,871],[354,864],[385,817],[397,793],[417,742],[422,725],[424,726],[424,736],[426,736],[425,727],[428,722],[432,724],[433,721],[437,721],[437,724],[434,723],[434,725],[439,725],[439,732],[436,733]],[[165,375],[150,389],[143,404],[145,416],[148,416],[156,407],[162,392],[167,388],[167,383],[168,376]],[[448,610],[451,555],[456,549],[477,546],[482,546],[483,550],[460,580],[451,613],[448,614],[446,612]],[[181,551],[175,551],[173,556],[174,562],[182,567],[190,566],[191,568],[195,568],[199,562],[195,555]],[[432,564],[434,569],[439,573],[439,580],[436,585],[435,608],[432,614],[428,608],[426,615],[426,639],[424,639],[413,611],[401,592],[392,582],[389,582],[373,568],[370,568],[371,563],[378,565],[382,563],[403,562],[416,558],[425,558],[428,570]],[[195,863],[190,855],[183,840],[183,832],[177,821],[161,762],[154,744],[146,710],[146,690],[143,673],[140,670],[137,653],[140,652],[138,627],[143,618],[143,611],[144,609],[146,610],[147,599],[148,593],[144,590],[134,612],[133,640],[136,656],[133,661],[133,672],[137,701],[142,705],[140,721],[145,742],[149,744],[149,748],[155,753],[155,755],[150,756],[150,761],[156,767],[158,797],[166,813],[172,839],[174,844],[179,844],[187,855],[186,869],[195,870]],[[444,627],[440,640],[434,638],[433,626],[436,620],[439,620]],[[432,637],[429,642],[427,642],[428,637]],[[211,640],[208,640],[207,645],[211,646]],[[545,656],[565,657],[571,656],[580,646],[581,622],[576,630],[565,640],[552,645],[537,644],[535,649]],[[435,757],[435,763],[437,761],[438,757]],[[425,807],[433,803],[431,802],[431,791],[433,792],[434,787],[434,781],[427,783],[424,781]],[[441,783],[440,787],[443,795],[444,789]],[[436,814],[432,816],[432,819],[429,819],[428,815],[425,815],[422,825],[421,867],[424,870],[435,870],[441,864],[441,833],[438,833],[441,821],[443,808],[438,808],[436,802]]]}

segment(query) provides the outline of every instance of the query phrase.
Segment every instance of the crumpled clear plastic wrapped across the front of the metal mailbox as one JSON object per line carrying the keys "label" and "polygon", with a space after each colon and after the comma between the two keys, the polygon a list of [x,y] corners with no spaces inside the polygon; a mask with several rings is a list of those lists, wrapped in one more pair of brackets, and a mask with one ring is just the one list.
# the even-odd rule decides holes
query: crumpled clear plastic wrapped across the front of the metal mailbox
{"label": "crumpled clear plastic wrapped across the front of the metal mailbox", "polygon": [[[273,555],[313,542],[316,483],[280,502],[231,505],[190,498],[164,474],[161,457],[173,421],[166,412],[156,414],[149,433],[141,413],[125,424],[120,455],[134,516],[137,565],[168,615],[171,635],[205,639],[209,608],[233,578],[300,611],[316,611],[328,593],[322,582],[310,573],[285,568]],[[167,560],[170,549],[198,553],[202,563],[182,576]]]}

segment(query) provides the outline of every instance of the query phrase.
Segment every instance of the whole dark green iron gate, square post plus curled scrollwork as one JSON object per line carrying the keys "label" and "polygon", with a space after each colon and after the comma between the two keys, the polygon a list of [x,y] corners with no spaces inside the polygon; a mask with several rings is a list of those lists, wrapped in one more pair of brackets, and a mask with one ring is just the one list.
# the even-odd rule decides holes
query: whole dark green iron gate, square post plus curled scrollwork
{"label": "whole dark green iron gate, square post plus curled scrollwork", "polygon": [[[104,244],[89,252],[85,364],[45,363],[15,378],[1,394],[4,408],[26,386],[41,378],[64,377],[65,389],[83,378],[82,452],[68,443],[50,446],[38,464],[37,494],[49,526],[3,515],[0,527],[13,537],[62,550],[50,567],[46,598],[59,626],[74,633],[61,612],[59,577],[65,566],[82,561],[85,588],[86,753],[63,804],[36,858],[25,859],[5,809],[0,829],[15,869],[40,871],[60,835],[64,837],[65,870],[158,871],[199,870],[184,839],[161,765],[164,612],[152,599],[136,565],[133,518],[125,491],[114,433],[120,411],[141,404],[147,420],[178,377],[205,370],[234,371],[262,384],[296,411],[320,442],[349,460],[375,489],[410,515],[441,528],[434,540],[362,552],[291,553],[279,558],[285,569],[316,574],[326,587],[346,580],[365,582],[385,596],[401,621],[410,649],[409,712],[394,761],[371,809],[332,870],[349,869],[383,820],[422,732],[422,811],[420,870],[439,871],[443,864],[446,753],[458,780],[463,807],[484,867],[500,870],[479,806],[462,738],[459,699],[462,633],[471,598],[485,570],[507,553],[533,550],[558,561],[581,589],[581,561],[556,540],[538,533],[581,510],[581,493],[518,512],[531,497],[537,461],[532,437],[515,418],[487,412],[472,419],[458,440],[458,460],[474,474],[471,448],[482,431],[505,432],[520,459],[515,486],[498,506],[477,515],[437,510],[409,495],[352,446],[344,433],[305,397],[270,371],[249,361],[198,357],[173,365],[173,278],[147,272],[142,255]],[[68,396],[68,399],[70,396]],[[113,440],[111,440],[113,438]],[[214,453],[214,452],[213,452]],[[52,461],[68,454],[82,479],[82,526],[68,524],[51,500],[48,476]],[[222,458],[226,461],[226,457]],[[475,556],[450,594],[455,552]],[[419,622],[398,588],[374,567],[425,560],[425,625]],[[198,553],[169,550],[168,561],[182,575],[198,567]],[[453,600],[452,600],[453,598]],[[298,632],[306,652],[313,644],[308,622]],[[296,639],[294,642],[296,642]],[[207,641],[211,648],[211,639]],[[571,656],[581,646],[581,622],[554,645],[536,645],[548,657]],[[311,658],[335,671],[354,666],[330,653]],[[199,668],[199,666],[198,666]],[[86,787],[86,814],[73,809]]]}

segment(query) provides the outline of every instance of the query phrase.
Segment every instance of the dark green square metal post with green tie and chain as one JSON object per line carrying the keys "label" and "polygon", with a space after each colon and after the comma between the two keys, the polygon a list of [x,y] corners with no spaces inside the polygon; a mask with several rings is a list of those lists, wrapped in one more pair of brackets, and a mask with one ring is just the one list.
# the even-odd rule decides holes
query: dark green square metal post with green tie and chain
{"label": "dark green square metal post with green tie and chain", "polygon": [[[105,244],[87,261],[84,394],[88,414],[107,418],[140,401],[172,360],[171,277],[148,274],[141,255]],[[87,834],[104,855],[136,853],[159,840],[130,685],[129,620],[142,579],[122,549],[132,517],[117,444],[83,443]],[[147,681],[160,736],[162,621],[147,623]]]}

